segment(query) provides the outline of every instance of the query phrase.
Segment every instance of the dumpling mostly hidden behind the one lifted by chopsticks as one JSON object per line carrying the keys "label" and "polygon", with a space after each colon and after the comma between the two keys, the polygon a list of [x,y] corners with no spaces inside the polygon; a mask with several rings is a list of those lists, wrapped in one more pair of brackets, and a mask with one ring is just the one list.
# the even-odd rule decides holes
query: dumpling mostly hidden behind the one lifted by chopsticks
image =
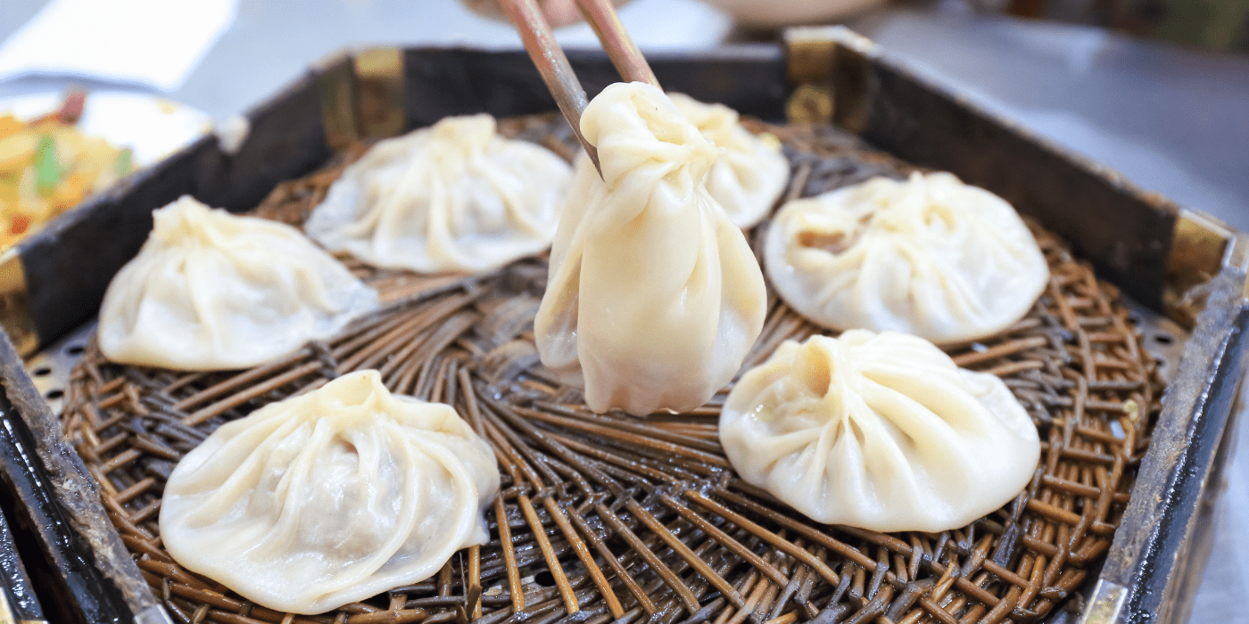
{"label": "dumpling mostly hidden behind the one lifted by chopsticks", "polygon": [[758,223],[789,181],[789,161],[779,142],[752,135],[737,121],[737,111],[722,104],[703,104],[684,94],[668,94],[702,135],[723,149],[703,183],[707,192],[743,230]]}

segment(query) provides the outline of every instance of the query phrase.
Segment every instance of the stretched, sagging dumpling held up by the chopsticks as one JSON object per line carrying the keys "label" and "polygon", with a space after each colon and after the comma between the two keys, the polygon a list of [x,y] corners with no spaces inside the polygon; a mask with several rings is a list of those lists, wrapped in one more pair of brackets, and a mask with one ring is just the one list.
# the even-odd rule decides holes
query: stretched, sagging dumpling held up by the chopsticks
{"label": "stretched, sagging dumpling held up by the chopsticks", "polygon": [[[542,363],[596,412],[687,411],[732,379],[763,327],[763,275],[702,186],[716,147],[657,87],[616,84],[581,117],[581,158],[535,321]],[[605,182],[606,180],[606,182]]]}

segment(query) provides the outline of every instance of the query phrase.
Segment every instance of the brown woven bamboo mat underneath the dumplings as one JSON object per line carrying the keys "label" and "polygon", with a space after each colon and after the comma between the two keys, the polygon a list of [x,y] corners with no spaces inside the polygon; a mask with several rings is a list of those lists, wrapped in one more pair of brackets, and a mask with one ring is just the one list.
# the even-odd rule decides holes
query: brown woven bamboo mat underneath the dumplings
{"label": "brown woven bamboo mat underneath the dumplings", "polygon": [[[571,155],[557,127],[548,117],[506,126]],[[831,127],[767,130],[793,163],[791,197],[908,168]],[[259,212],[301,222],[351,156],[284,183]],[[154,593],[184,623],[1035,622],[1109,548],[1162,389],[1114,288],[1037,236],[1048,291],[1014,327],[952,354],[1005,379],[1040,431],[1042,462],[1013,502],[957,530],[822,525],[743,483],[717,439],[724,392],[687,414],[590,413],[538,362],[541,258],[470,277],[348,260],[388,307],[250,371],[116,366],[92,344],[71,379],[65,432]],[[747,364],[816,331],[773,297]],[[156,518],[179,458],[226,421],[361,368],[380,369],[393,392],[451,403],[495,447],[503,475],[491,542],[428,580],[322,617],[254,605],[177,565]]]}

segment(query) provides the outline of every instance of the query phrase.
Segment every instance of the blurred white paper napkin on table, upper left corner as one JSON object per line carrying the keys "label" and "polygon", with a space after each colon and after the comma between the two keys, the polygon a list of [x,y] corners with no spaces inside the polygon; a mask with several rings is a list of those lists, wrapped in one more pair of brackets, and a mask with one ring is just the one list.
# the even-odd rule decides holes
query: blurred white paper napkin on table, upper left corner
{"label": "blurred white paper napkin on table, upper left corner", "polygon": [[175,91],[239,0],[52,0],[4,45],[0,80],[56,74]]}

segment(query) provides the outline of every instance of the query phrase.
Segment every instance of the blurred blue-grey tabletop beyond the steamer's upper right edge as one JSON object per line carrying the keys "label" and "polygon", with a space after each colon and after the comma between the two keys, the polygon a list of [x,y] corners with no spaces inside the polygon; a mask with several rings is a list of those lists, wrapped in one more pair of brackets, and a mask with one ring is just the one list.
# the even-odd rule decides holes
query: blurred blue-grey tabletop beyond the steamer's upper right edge
{"label": "blurred blue-grey tabletop beyond the steamer's upper right edge", "polygon": [[1249,56],[957,12],[854,27],[989,111],[1249,231]]}

